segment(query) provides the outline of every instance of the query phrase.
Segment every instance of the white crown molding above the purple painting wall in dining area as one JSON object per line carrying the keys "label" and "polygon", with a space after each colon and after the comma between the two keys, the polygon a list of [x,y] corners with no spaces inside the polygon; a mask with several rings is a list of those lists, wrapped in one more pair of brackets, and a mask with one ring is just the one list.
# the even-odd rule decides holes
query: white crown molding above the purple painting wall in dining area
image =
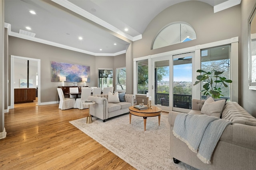
{"label": "white crown molding above the purple painting wall in dining area", "polygon": [[86,50],[83,50],[83,49],[70,47],[68,45],[63,45],[63,44],[60,44],[60,43],[50,42],[50,41],[43,40],[43,39],[40,39],[40,38],[34,38],[34,37],[27,36],[27,35],[24,35],[24,34],[19,34],[19,33],[16,33],[16,32],[12,32],[11,31],[11,24],[8,24],[6,22],[4,23],[4,27],[7,28],[7,30],[8,30],[8,36],[13,36],[13,37],[33,41],[33,42],[52,45],[52,46],[55,46],[55,47],[60,47],[60,48],[64,48],[64,49],[68,49],[68,50],[72,50],[72,51],[77,51],[77,52],[85,53],[85,54],[89,54],[89,55],[94,55],[94,56],[116,56],[116,55],[126,53],[126,50],[119,51],[119,52],[116,52],[116,53],[93,53],[93,52],[86,51]]}

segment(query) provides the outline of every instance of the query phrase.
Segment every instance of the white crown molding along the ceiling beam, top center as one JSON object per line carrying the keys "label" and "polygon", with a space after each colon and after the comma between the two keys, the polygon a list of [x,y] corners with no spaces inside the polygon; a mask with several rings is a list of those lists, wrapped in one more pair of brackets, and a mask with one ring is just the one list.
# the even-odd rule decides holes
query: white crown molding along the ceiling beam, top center
{"label": "white crown molding along the ceiling beam, top center", "polygon": [[59,4],[60,6],[63,6],[64,8],[67,8],[76,14],[79,14],[80,16],[83,16],[87,18],[88,20],[91,20],[92,22],[95,22],[96,24],[99,24],[100,26],[103,26],[104,28],[107,28],[108,30],[111,30],[112,32],[115,32],[116,34],[119,34],[128,40],[136,41],[140,40],[142,38],[142,35],[138,35],[135,37],[130,36],[129,34],[126,34],[122,30],[119,30],[118,28],[112,26],[108,22],[92,15],[91,13],[87,12],[86,10],[83,10],[82,8],[76,6],[75,4],[69,2],[68,0],[51,0],[52,2],[55,2],[56,4]]}

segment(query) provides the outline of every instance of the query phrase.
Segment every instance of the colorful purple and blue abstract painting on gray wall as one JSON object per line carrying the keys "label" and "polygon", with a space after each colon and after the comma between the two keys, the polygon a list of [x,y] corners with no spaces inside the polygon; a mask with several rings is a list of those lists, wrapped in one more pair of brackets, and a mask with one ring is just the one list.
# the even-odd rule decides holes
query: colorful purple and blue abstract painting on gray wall
{"label": "colorful purple and blue abstract painting on gray wall", "polygon": [[87,78],[86,82],[90,83],[90,66],[51,61],[51,69],[52,82],[66,77],[66,82],[81,82],[82,78]]}

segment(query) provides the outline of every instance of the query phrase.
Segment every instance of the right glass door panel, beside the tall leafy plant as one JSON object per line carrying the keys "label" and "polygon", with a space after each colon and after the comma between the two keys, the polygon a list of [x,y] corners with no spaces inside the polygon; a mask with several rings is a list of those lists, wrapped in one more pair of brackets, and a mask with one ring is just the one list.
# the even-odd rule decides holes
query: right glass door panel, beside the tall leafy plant
{"label": "right glass door panel, beside the tall leafy plant", "polygon": [[173,111],[188,113],[192,107],[192,59],[194,52],[173,55]]}

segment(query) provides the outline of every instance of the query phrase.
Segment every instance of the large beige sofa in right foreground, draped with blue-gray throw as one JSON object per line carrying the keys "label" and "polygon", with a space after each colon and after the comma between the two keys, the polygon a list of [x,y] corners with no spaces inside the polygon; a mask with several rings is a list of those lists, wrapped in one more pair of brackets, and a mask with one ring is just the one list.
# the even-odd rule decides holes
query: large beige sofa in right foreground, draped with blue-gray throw
{"label": "large beige sofa in right foreground, draped with blue-gray throw", "polygon": [[[189,114],[201,114],[205,100],[192,100]],[[198,159],[196,153],[173,135],[178,112],[170,112],[170,155],[174,163],[180,161],[200,170],[254,170],[256,168],[256,119],[238,103],[226,102],[222,119],[232,121],[223,131],[211,157],[211,164]]]}

